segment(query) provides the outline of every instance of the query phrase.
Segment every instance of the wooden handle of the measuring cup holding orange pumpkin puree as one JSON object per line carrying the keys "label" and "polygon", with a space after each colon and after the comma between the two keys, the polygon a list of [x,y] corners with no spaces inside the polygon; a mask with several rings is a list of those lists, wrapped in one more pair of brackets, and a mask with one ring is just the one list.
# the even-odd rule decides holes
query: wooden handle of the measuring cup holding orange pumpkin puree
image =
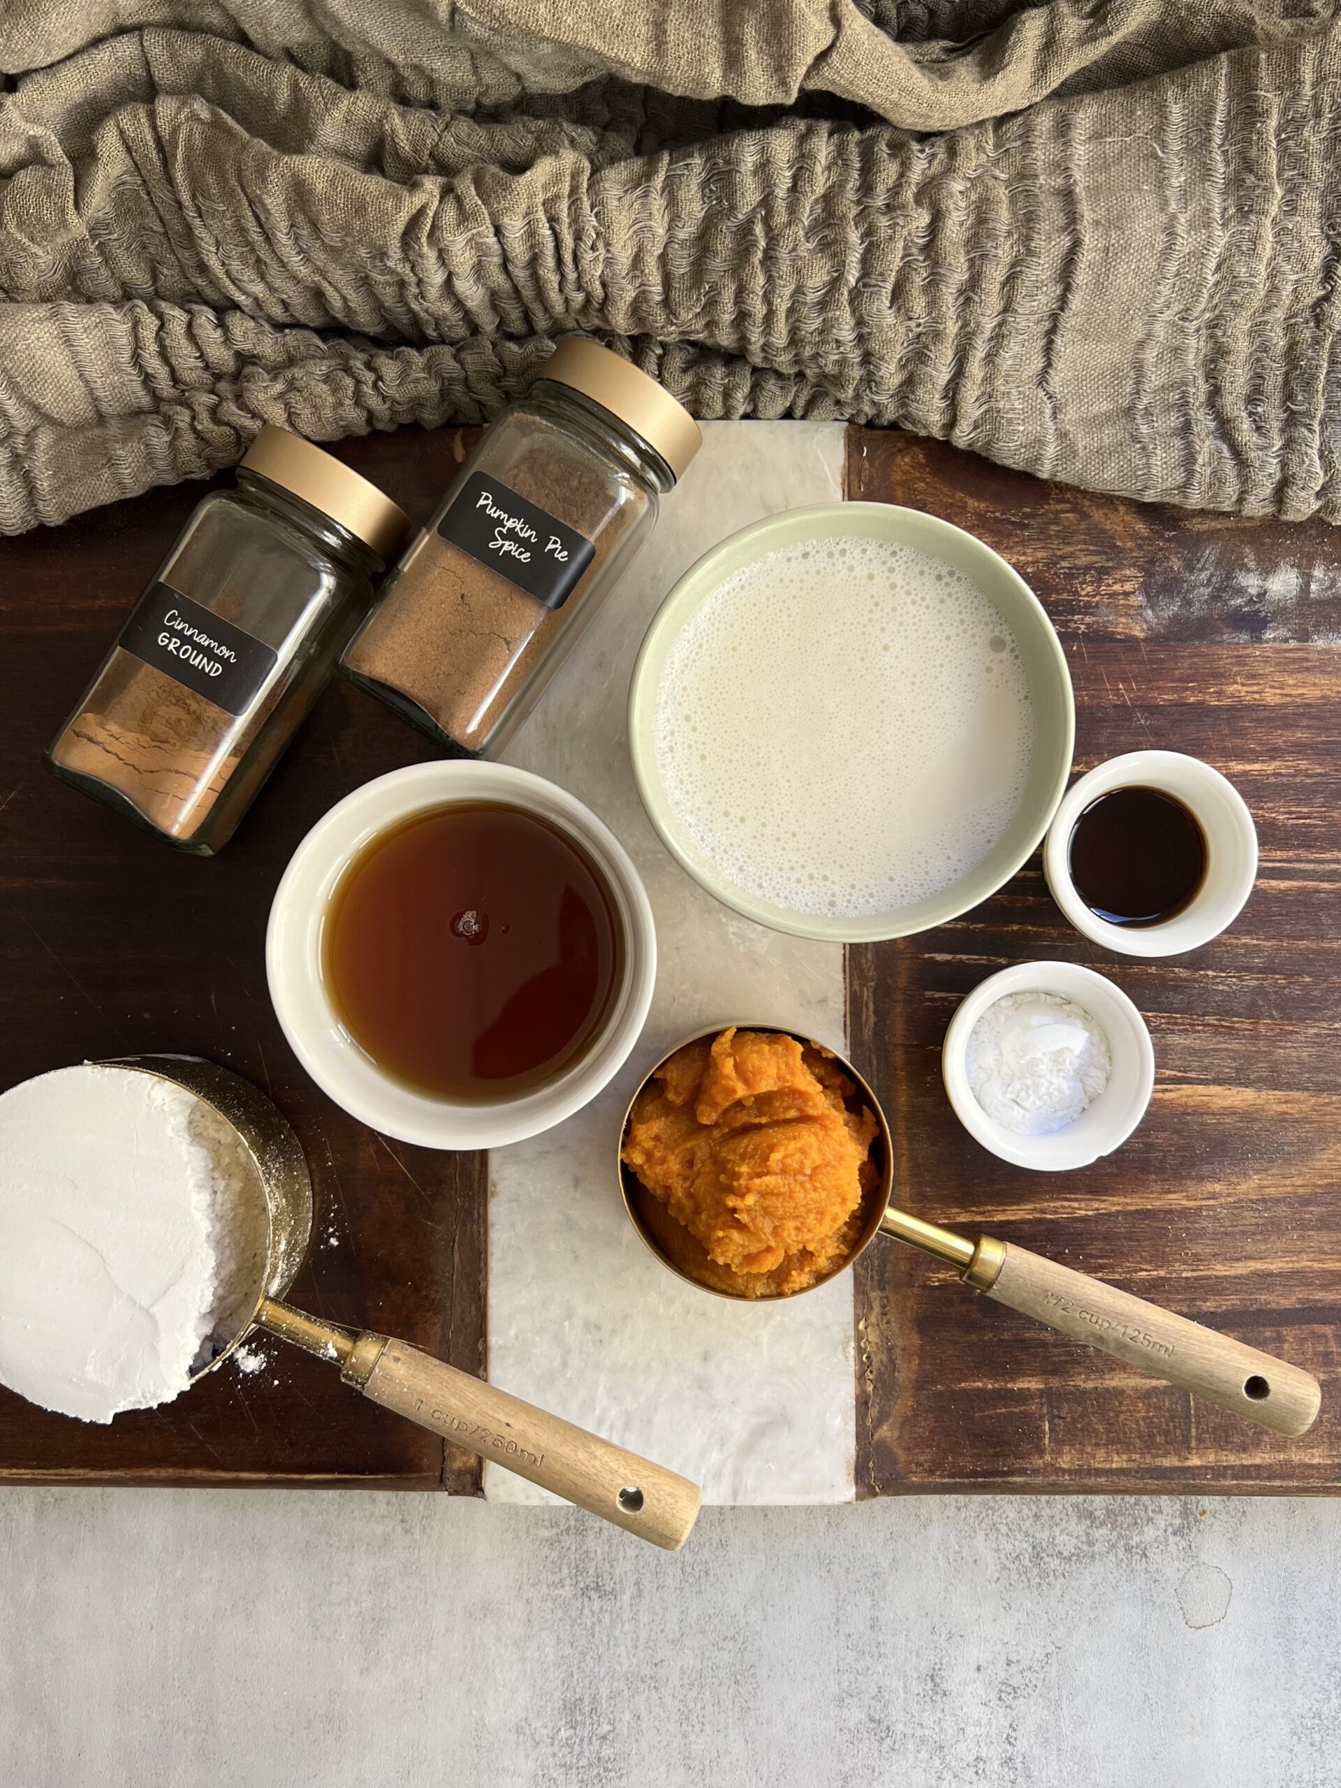
{"label": "wooden handle of the measuring cup holding orange pumpkin puree", "polygon": [[1001,1269],[991,1286],[983,1286],[985,1296],[1033,1316],[1073,1341],[1116,1354],[1153,1379],[1180,1384],[1262,1429],[1303,1434],[1312,1427],[1323,1393],[1300,1366],[1259,1354],[1243,1341],[1105,1286],[1101,1278],[1073,1273],[1069,1266],[1044,1261],[1026,1248],[1003,1246]]}

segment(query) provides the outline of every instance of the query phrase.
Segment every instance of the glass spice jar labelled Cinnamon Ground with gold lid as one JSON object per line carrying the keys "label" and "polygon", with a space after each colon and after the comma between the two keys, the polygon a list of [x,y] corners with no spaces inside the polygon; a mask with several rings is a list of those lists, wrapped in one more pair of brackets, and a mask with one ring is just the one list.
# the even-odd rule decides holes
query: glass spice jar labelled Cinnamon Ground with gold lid
{"label": "glass spice jar labelled Cinnamon Ground with gold lid", "polygon": [[409,517],[358,472],[265,427],[236,490],[191,511],[63,726],[59,778],[213,856],[316,701]]}

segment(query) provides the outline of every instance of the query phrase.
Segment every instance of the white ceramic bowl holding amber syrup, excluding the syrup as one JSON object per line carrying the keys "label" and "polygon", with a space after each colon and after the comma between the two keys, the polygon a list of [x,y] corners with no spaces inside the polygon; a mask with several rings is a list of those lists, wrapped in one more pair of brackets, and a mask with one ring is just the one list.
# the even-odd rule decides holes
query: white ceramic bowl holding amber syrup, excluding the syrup
{"label": "white ceramic bowl holding amber syrup, excluding the syrup", "polygon": [[[350,1041],[322,985],[322,924],[350,858],[388,826],[454,801],[502,801],[569,833],[604,873],[624,932],[624,978],[590,1050],[547,1085],[497,1103],[438,1100],[390,1080]],[[656,930],[628,851],[574,796],[504,763],[413,763],[345,796],[297,848],[270,908],[266,974],[293,1053],[343,1110],[424,1148],[502,1148],[570,1118],[622,1067],[653,999]]]}

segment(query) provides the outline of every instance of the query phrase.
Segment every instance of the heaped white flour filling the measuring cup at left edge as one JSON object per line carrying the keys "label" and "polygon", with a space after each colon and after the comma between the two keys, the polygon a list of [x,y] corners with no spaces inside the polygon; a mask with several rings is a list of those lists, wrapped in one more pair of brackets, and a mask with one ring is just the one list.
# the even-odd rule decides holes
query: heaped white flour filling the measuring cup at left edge
{"label": "heaped white flour filling the measuring cup at left edge", "polygon": [[84,1421],[177,1396],[256,1282],[257,1196],[236,1132],[182,1087],[93,1066],[13,1087],[0,1384]]}

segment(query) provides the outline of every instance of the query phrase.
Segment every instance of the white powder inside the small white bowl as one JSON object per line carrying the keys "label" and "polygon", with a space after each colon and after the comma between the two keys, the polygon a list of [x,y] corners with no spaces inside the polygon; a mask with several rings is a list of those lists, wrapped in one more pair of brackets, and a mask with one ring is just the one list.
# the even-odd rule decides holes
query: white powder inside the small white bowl
{"label": "white powder inside the small white bowl", "polygon": [[1060,994],[1005,994],[969,1032],[964,1062],[973,1094],[1016,1135],[1066,1130],[1112,1073],[1098,1021]]}

